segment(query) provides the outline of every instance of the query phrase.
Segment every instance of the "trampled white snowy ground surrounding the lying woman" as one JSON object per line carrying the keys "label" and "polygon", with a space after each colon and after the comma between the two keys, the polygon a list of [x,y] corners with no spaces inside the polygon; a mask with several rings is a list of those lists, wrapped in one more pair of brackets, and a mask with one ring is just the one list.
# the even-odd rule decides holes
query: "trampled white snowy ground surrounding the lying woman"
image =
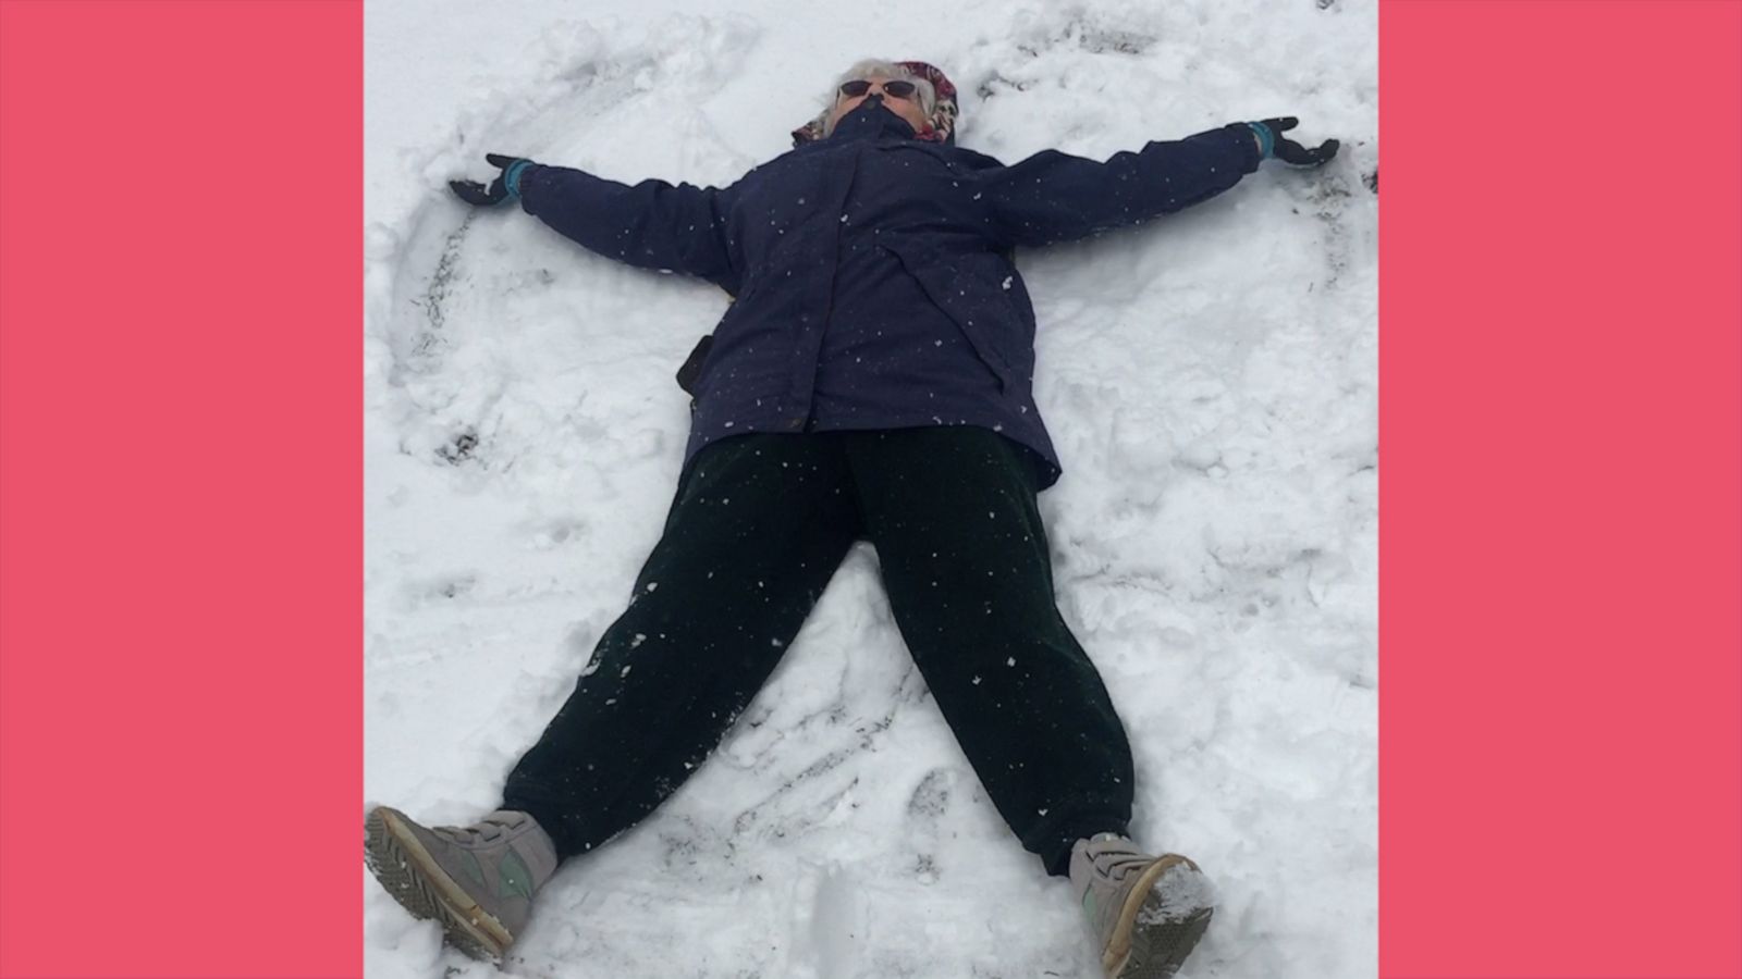
{"label": "trampled white snowy ground surrounding the lying woman", "polygon": [[[1155,225],[1024,253],[1059,603],[1125,718],[1136,831],[1221,909],[1183,976],[1376,974],[1376,12],[1350,0],[366,7],[366,786],[490,808],[620,611],[725,296],[444,188],[484,152],[728,183],[862,56],[962,89],[965,146],[1094,159],[1301,117]],[[1376,185],[1376,178],[1374,178]],[[361,814],[359,814],[361,815]],[[359,861],[361,866],[361,861]],[[491,976],[362,873],[375,977]],[[540,977],[1097,974],[1000,822],[855,550],[763,697],[655,817],[566,866],[503,965]]]}

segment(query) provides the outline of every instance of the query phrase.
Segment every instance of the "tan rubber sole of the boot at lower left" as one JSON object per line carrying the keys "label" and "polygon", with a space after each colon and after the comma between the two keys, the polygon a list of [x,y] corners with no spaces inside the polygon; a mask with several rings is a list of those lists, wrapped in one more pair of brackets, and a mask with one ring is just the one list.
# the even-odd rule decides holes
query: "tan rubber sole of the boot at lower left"
{"label": "tan rubber sole of the boot at lower left", "polygon": [[481,962],[500,962],[514,935],[441,869],[408,822],[395,808],[369,814],[362,824],[369,873],[413,918],[436,918],[448,944]]}

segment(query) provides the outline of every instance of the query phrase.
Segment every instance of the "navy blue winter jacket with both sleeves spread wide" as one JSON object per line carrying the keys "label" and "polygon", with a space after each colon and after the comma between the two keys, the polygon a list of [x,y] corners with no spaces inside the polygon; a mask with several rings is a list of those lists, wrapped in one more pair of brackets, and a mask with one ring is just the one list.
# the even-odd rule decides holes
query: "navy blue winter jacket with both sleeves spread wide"
{"label": "navy blue winter jacket with both sleeves spread wide", "polygon": [[913,136],[868,99],[723,190],[521,174],[521,206],[563,235],[735,296],[692,385],[685,465],[746,432],[979,425],[1031,449],[1050,486],[1035,310],[1012,251],[1179,211],[1261,159],[1244,122],[1104,164],[1047,150],[1003,165]]}

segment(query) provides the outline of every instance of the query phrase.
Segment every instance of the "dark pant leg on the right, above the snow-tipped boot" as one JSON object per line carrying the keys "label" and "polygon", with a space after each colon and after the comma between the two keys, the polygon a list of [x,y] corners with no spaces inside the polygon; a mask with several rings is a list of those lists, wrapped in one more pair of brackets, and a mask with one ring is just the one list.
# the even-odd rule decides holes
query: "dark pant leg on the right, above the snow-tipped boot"
{"label": "dark pant leg on the right, above the snow-tipped boot", "polygon": [[988,429],[855,434],[848,460],[901,634],[993,805],[1047,871],[1124,833],[1132,760],[1059,617],[1024,449]]}

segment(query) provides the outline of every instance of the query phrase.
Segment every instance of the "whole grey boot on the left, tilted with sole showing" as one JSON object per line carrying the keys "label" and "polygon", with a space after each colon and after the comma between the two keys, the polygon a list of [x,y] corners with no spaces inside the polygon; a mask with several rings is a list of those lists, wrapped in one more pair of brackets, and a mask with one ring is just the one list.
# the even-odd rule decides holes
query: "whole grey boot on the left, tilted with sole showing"
{"label": "whole grey boot on the left, tilted with sole showing", "polygon": [[500,960],[556,873],[556,843],[524,812],[496,810],[474,826],[427,829],[376,807],[362,824],[364,861],[413,918],[436,918],[448,944]]}

